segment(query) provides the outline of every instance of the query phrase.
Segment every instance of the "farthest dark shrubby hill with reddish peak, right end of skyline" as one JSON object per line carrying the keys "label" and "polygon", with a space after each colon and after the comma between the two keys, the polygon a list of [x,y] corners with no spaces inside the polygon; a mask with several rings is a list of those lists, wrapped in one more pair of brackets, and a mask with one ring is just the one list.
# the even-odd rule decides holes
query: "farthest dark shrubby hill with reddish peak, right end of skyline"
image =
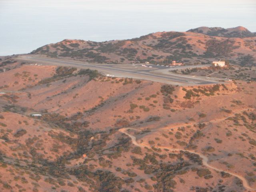
{"label": "farthest dark shrubby hill with reddish peak, right end of skyline", "polygon": [[238,26],[235,28],[221,28],[221,27],[198,27],[195,29],[190,29],[187,32],[194,32],[194,33],[202,33],[208,36],[218,36],[218,37],[255,37],[256,32],[252,33],[248,29]]}

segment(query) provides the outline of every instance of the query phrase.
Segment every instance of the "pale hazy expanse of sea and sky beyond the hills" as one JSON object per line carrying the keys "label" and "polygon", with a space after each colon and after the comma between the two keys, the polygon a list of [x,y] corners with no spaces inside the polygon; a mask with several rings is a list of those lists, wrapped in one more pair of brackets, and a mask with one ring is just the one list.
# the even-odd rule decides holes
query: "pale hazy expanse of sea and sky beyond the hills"
{"label": "pale hazy expanse of sea and sky beyond the hills", "polygon": [[200,26],[256,32],[256,0],[0,0],[0,55]]}

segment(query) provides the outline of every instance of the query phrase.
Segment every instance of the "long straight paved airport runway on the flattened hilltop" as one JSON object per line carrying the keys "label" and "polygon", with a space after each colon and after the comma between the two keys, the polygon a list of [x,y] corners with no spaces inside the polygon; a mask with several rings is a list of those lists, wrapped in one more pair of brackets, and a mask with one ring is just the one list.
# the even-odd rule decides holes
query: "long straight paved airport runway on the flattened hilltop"
{"label": "long straight paved airport runway on the flattened hilltop", "polygon": [[[151,80],[168,84],[192,85],[192,84],[216,84],[216,80],[204,80],[205,77],[185,77],[176,74],[162,74],[161,70],[171,70],[170,67],[150,65],[142,67],[142,64],[98,64],[92,62],[80,62],[55,58],[43,58],[38,56],[22,56],[19,60],[36,62],[43,65],[72,66],[77,68],[95,69],[116,77],[136,78],[142,80]],[[189,67],[189,66],[188,66]]]}

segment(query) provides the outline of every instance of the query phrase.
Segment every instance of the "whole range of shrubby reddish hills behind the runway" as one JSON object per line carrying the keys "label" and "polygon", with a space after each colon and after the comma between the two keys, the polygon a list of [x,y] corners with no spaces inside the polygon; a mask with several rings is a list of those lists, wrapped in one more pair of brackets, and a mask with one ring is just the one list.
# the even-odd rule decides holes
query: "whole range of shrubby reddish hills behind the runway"
{"label": "whole range of shrubby reddish hills behind the runway", "polygon": [[243,27],[200,27],[188,32],[156,32],[130,40],[63,40],[42,46],[31,54],[102,63],[149,61],[168,64],[176,60],[185,64],[205,64],[224,59],[248,66],[256,65],[256,37]]}

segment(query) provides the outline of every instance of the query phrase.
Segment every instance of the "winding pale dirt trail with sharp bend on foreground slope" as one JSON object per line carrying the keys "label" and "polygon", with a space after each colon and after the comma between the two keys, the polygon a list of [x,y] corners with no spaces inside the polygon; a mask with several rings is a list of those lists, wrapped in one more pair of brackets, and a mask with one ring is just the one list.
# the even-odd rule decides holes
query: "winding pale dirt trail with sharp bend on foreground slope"
{"label": "winding pale dirt trail with sharp bend on foreground slope", "polygon": [[[241,112],[241,111],[244,111],[244,109],[243,109],[243,110],[240,110],[240,111],[238,111],[238,112]],[[236,113],[238,113],[238,112],[236,112]],[[211,120],[211,121],[208,121],[208,122],[220,122],[220,121],[222,121],[222,120],[224,120],[224,119],[226,119],[226,118],[229,118],[229,117],[234,116],[236,113],[231,114],[230,116],[225,117],[225,118],[220,118],[220,119],[217,119],[217,120],[214,119],[214,120]],[[189,124],[183,124],[183,126],[188,126],[188,125],[189,125]],[[180,126],[182,126],[182,125],[173,126],[173,127],[171,127],[171,128],[177,128],[177,127],[180,127]],[[153,131],[169,130],[169,129],[171,129],[171,128],[168,127],[168,128],[163,128],[163,129],[158,129],[158,130],[153,130]],[[145,143],[139,144],[139,143],[136,141],[136,137],[135,137],[135,136],[133,136],[133,135],[131,135],[131,134],[128,134],[128,132],[126,132],[126,130],[129,130],[129,129],[130,129],[130,130],[141,131],[141,129],[136,129],[136,128],[122,128],[122,129],[119,129],[119,131],[122,132],[122,133],[124,133],[124,134],[126,134],[126,135],[128,135],[128,136],[132,139],[132,144],[134,144],[135,146],[139,146],[139,147],[142,147],[142,148],[144,148],[144,147],[151,147],[150,145],[145,144]],[[184,152],[189,152],[189,153],[193,153],[193,154],[199,155],[200,158],[202,158],[202,163],[203,163],[204,166],[206,166],[206,167],[208,167],[208,168],[210,168],[210,169],[212,169],[212,170],[216,170],[216,171],[218,171],[218,172],[225,172],[225,173],[228,173],[228,174],[230,174],[230,175],[232,175],[232,176],[235,176],[235,177],[239,178],[240,180],[242,180],[244,188],[256,192],[256,189],[251,188],[250,185],[249,185],[249,183],[248,183],[248,181],[247,181],[244,177],[242,177],[242,176],[240,176],[240,175],[238,175],[238,174],[235,174],[235,173],[233,173],[233,172],[225,171],[225,170],[222,170],[222,169],[219,169],[219,168],[216,168],[216,167],[214,167],[214,166],[209,165],[209,164],[208,164],[208,157],[204,156],[204,155],[201,154],[201,153],[194,152],[194,151],[191,151],[191,150],[184,150],[184,149],[182,149],[182,148],[172,148],[172,147],[167,147],[167,146],[155,146],[155,148],[169,149],[169,150],[171,150],[172,152],[174,152],[174,153],[176,153],[176,154],[178,154],[179,151],[182,150],[182,151],[184,151]]]}

